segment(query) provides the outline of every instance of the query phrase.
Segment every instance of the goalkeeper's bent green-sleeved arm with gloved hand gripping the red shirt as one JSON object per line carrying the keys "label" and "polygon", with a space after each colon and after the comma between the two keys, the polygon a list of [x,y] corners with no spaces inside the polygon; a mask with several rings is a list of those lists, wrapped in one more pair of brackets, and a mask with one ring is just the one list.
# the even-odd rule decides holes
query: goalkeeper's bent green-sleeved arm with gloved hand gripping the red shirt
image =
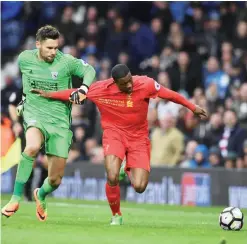
{"label": "goalkeeper's bent green-sleeved arm with gloved hand gripping the red shirt", "polygon": [[[83,84],[81,85],[81,87],[78,88],[77,91],[74,91],[74,93],[76,93],[75,96],[79,95],[77,93],[86,95],[90,85],[93,83],[95,79],[96,71],[91,65],[84,62],[82,59],[76,59],[72,57],[71,55],[67,55],[67,57],[69,58],[70,74],[83,79]],[[73,95],[71,94],[71,96]]]}

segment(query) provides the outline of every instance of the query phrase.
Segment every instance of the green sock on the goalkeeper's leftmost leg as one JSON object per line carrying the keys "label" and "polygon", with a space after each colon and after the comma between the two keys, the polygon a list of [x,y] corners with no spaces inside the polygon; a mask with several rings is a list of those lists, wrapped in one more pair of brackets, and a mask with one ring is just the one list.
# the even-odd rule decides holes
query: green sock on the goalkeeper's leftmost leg
{"label": "green sock on the goalkeeper's leftmost leg", "polygon": [[16,179],[15,179],[15,186],[14,186],[14,193],[11,197],[11,202],[19,202],[21,200],[21,196],[23,194],[24,186],[28,181],[32,170],[33,170],[33,157],[29,157],[24,152],[21,155],[21,161],[19,163]]}

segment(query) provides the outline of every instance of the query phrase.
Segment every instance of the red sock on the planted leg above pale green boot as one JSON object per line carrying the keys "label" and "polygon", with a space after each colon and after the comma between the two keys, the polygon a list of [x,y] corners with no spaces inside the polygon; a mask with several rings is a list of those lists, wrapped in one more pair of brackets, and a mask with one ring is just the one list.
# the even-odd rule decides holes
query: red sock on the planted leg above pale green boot
{"label": "red sock on the planted leg above pale green boot", "polygon": [[120,187],[119,185],[110,186],[105,184],[105,192],[112,214],[122,215],[120,212]]}

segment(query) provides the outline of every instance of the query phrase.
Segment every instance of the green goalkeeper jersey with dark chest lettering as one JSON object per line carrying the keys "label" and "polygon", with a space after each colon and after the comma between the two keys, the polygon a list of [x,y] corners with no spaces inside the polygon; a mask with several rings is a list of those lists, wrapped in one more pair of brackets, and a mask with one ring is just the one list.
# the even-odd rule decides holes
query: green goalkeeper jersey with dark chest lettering
{"label": "green goalkeeper jersey with dark chest lettering", "polygon": [[72,88],[72,76],[84,77],[84,83],[89,86],[95,76],[93,67],[60,51],[57,51],[52,63],[47,63],[38,59],[38,49],[23,51],[18,63],[22,72],[23,93],[26,96],[24,120],[69,128],[71,103],[49,100],[31,93],[30,90],[59,91]]}

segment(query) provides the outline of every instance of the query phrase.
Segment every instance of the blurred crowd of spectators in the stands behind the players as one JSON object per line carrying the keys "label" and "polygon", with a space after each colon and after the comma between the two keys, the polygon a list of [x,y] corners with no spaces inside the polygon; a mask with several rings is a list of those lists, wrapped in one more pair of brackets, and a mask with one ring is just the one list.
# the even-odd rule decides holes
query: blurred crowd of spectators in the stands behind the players
{"label": "blurred crowd of spectators in the stands behind the players", "polygon": [[[21,89],[17,56],[35,48],[39,27],[52,24],[62,34],[60,50],[91,64],[96,80],[109,78],[111,67],[124,63],[132,74],[148,75],[207,109],[209,118],[200,121],[177,104],[159,98],[150,101],[152,165],[247,168],[245,2],[1,5],[1,124],[9,130],[2,141],[11,136],[9,96]],[[76,78],[73,83],[79,85]],[[90,101],[73,106],[72,121],[74,142],[68,163],[101,164],[102,131],[96,106]]]}

